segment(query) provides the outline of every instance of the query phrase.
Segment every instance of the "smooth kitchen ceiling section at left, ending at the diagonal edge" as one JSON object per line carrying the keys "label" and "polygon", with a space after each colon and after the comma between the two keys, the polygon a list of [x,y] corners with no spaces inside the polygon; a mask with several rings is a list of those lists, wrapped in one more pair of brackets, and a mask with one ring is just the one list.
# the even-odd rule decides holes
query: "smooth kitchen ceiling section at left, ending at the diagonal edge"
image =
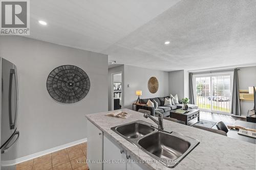
{"label": "smooth kitchen ceiling section at left, ending at the diagonal edge", "polygon": [[[30,38],[101,52],[180,0],[33,0]],[[38,20],[48,22],[41,26]]]}

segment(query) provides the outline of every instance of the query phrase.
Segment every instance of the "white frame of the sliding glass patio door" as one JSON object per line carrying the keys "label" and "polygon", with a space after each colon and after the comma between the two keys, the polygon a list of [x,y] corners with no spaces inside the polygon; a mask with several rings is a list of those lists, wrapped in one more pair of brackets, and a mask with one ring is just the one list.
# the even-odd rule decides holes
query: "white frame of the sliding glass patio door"
{"label": "white frame of the sliding glass patio door", "polygon": [[[232,100],[232,89],[233,89],[233,72],[232,71],[223,71],[223,72],[212,72],[212,73],[202,73],[202,74],[195,74],[193,75],[193,91],[194,91],[194,99],[197,99],[197,84],[196,84],[196,78],[200,78],[200,77],[210,77],[210,94],[212,97],[212,77],[214,76],[230,76],[230,101]],[[197,101],[196,101],[197,102]],[[230,105],[231,106],[231,105]],[[217,111],[217,110],[213,110],[212,109],[213,105],[212,105],[212,98],[210,100],[210,109],[200,109],[202,111],[206,111],[206,112],[211,112],[211,113],[219,113],[219,114],[226,114],[226,115],[231,115],[231,112],[224,112],[224,111]],[[231,109],[231,108],[230,108]]]}

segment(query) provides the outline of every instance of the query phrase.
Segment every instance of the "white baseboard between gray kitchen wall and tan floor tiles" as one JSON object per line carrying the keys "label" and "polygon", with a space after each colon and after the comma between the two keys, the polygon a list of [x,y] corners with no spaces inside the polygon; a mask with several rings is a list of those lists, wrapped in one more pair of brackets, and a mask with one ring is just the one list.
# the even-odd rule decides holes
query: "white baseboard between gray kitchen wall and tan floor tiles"
{"label": "white baseboard between gray kitchen wall and tan floor tiles", "polygon": [[15,164],[18,164],[18,163],[22,163],[22,162],[25,162],[25,161],[43,156],[43,155],[50,154],[52,152],[56,152],[56,151],[59,151],[59,150],[65,149],[65,148],[72,147],[73,145],[83,143],[83,142],[87,142],[87,138],[80,139],[80,140],[77,140],[77,141],[73,141],[73,142],[70,142],[70,143],[67,143],[67,144],[62,144],[58,147],[51,148],[51,149],[41,151],[41,152],[37,152],[35,154],[31,154],[31,155],[28,155],[28,156],[25,156],[25,157],[22,157],[22,158],[18,158],[18,159],[15,159],[15,160],[2,161],[1,165],[2,166],[12,166],[12,165],[15,165]]}

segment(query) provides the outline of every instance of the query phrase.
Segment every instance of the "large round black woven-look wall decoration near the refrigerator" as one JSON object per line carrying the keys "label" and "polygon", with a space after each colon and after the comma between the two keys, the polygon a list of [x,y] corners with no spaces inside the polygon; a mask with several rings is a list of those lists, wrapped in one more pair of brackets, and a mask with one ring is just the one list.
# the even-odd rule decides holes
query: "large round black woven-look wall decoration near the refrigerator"
{"label": "large round black woven-look wall decoration near the refrigerator", "polygon": [[77,66],[61,65],[50,72],[47,90],[58,102],[75,103],[89,92],[90,79],[86,72]]}

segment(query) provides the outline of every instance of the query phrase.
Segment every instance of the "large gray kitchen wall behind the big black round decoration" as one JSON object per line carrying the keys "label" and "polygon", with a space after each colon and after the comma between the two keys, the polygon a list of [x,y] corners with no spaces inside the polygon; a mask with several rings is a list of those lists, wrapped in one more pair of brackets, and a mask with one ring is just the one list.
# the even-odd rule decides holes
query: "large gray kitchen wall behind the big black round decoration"
{"label": "large gray kitchen wall behind the big black round decoration", "polygon": [[[25,37],[1,36],[0,56],[18,69],[20,138],[16,158],[86,138],[84,115],[108,110],[107,55]],[[91,81],[87,96],[74,104],[54,101],[46,88],[51,70],[63,64],[82,68]]]}

